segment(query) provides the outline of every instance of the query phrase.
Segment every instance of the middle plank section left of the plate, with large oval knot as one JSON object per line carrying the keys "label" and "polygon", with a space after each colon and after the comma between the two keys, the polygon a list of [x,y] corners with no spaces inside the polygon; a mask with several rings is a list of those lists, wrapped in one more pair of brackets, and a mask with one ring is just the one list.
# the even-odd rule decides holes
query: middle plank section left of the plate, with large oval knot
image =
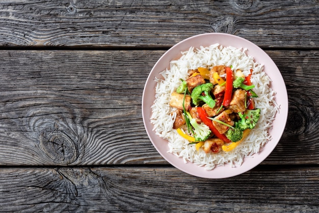
{"label": "middle plank section left of the plate, with large oval knot", "polygon": [[163,162],[141,116],[142,91],[158,54],[2,53],[2,164]]}

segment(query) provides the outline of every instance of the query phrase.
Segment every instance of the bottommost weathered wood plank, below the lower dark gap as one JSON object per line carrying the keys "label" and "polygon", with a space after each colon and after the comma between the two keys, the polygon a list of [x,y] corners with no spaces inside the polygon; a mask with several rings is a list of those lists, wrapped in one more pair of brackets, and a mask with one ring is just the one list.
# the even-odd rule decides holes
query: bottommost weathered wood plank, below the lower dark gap
{"label": "bottommost weathered wood plank, below the lower dark gap", "polygon": [[0,212],[317,212],[318,176],[317,168],[257,167],[219,180],[171,167],[3,168]]}

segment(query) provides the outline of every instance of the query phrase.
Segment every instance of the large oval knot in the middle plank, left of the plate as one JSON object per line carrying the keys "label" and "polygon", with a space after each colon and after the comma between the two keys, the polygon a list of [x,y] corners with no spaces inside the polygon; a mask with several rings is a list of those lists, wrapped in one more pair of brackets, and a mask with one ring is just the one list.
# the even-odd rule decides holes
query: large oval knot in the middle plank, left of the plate
{"label": "large oval knot in the middle plank, left of the plate", "polygon": [[40,146],[55,163],[70,164],[78,157],[76,144],[70,136],[61,131],[43,132]]}

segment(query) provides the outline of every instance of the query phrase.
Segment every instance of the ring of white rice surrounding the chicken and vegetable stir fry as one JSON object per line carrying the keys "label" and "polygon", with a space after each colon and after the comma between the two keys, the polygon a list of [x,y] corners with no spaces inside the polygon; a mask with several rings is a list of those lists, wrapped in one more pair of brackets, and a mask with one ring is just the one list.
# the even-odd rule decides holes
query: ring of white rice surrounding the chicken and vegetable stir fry
{"label": "ring of white rice surrounding the chicken and vegetable stir fry", "polygon": [[[216,166],[230,164],[231,167],[240,166],[244,157],[251,157],[264,146],[271,136],[268,130],[276,112],[279,110],[274,101],[275,92],[270,88],[271,79],[263,72],[263,65],[254,61],[254,58],[247,55],[246,49],[236,49],[231,46],[224,47],[213,44],[194,50],[182,52],[182,56],[170,62],[170,69],[164,70],[161,75],[163,79],[155,79],[155,101],[152,105],[151,123],[153,131],[157,135],[168,140],[169,152],[177,157],[183,158],[184,162],[193,162],[205,169],[211,170]],[[258,98],[254,98],[255,106],[261,109],[259,121],[252,129],[247,138],[238,147],[230,152],[205,153],[202,149],[197,151],[195,145],[189,145],[189,141],[181,137],[174,130],[173,123],[175,117],[170,113],[174,108],[170,107],[169,101],[171,93],[180,84],[180,79],[186,79],[189,69],[197,69],[202,66],[226,65],[234,70],[241,69],[245,76],[248,76],[250,69],[253,69],[251,81],[255,85],[253,89]]]}

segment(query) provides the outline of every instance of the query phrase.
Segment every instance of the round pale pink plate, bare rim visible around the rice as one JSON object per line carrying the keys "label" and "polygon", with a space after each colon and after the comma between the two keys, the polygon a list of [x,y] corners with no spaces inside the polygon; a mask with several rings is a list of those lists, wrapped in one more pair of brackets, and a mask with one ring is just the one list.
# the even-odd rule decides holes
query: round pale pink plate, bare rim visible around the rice
{"label": "round pale pink plate, bare rim visible around the rice", "polygon": [[[200,46],[209,46],[215,43],[219,43],[223,46],[234,46],[235,48],[247,48],[248,51],[246,53],[248,55],[254,57],[254,59],[260,64],[264,64],[264,72],[267,73],[267,75],[271,78],[271,87],[275,92],[277,92],[275,100],[280,106],[280,112],[276,114],[273,128],[270,130],[272,139],[265,144],[259,153],[254,154],[253,158],[244,158],[244,162],[240,167],[231,168],[230,165],[226,164],[225,166],[216,167],[213,170],[207,171],[204,167],[199,167],[198,165],[190,162],[184,163],[182,158],[178,158],[175,155],[168,153],[168,141],[155,134],[155,132],[152,130],[153,126],[150,122],[150,117],[152,113],[151,106],[153,105],[153,101],[155,99],[155,77],[161,78],[159,73],[170,67],[170,61],[178,59],[181,56],[181,52],[189,50],[191,46],[194,46],[194,48],[199,48]],[[206,33],[180,41],[171,49],[169,49],[161,58],[159,58],[152,68],[144,87],[142,98],[142,115],[146,132],[153,146],[159,152],[159,154],[161,154],[174,167],[197,177],[211,179],[228,178],[243,174],[256,167],[256,165],[267,158],[275,149],[282,136],[287,121],[288,96],[284,80],[278,67],[274,61],[257,45],[244,38],[230,34]]]}

